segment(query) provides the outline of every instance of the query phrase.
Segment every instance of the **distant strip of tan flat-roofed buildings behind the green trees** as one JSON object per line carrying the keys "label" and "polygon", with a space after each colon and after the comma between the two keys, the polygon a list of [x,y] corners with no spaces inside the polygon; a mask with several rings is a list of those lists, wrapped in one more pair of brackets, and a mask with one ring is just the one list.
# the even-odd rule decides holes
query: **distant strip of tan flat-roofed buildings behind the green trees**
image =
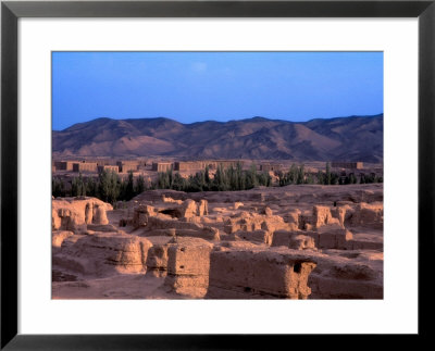
{"label": "distant strip of tan flat-roofed buildings behind the green trees", "polygon": [[87,160],[53,160],[52,175],[71,181],[79,174],[86,177],[98,177],[102,172],[114,172],[121,179],[125,179],[129,174],[136,178],[144,177],[148,185],[156,181],[159,173],[174,172],[183,178],[188,178],[204,171],[206,168],[213,177],[216,170],[228,170],[237,166],[241,170],[254,168],[259,173],[268,174],[272,179],[272,185],[278,185],[279,175],[290,171],[291,166],[303,164],[303,172],[307,176],[316,176],[319,172],[328,171],[339,177],[352,176],[356,183],[360,183],[361,177],[383,177],[382,164],[364,164],[363,162],[295,162],[295,161],[262,161],[262,160],[201,160],[201,161],[167,161],[167,160],[115,160],[115,159],[87,159]]}

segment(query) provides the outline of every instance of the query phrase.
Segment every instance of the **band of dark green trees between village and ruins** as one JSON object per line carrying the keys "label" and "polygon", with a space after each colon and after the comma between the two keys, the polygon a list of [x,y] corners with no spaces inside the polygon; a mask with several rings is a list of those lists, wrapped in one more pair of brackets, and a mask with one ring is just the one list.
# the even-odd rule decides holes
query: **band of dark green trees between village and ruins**
{"label": "band of dark green trees between village and ruins", "polygon": [[[293,164],[288,172],[277,172],[278,185],[346,185],[346,184],[369,184],[383,183],[383,178],[373,174],[361,174],[359,178],[353,174],[340,176],[331,171],[330,163],[326,163],[325,172],[319,171],[316,175],[306,172],[304,165]],[[136,179],[133,172],[128,173],[126,179],[122,179],[114,171],[104,170],[98,177],[73,178],[71,187],[62,178],[52,178],[53,197],[79,197],[88,196],[98,198],[104,202],[115,203],[116,201],[128,201],[135,196],[154,189],[173,189],[186,192],[197,191],[237,191],[249,190],[259,186],[271,187],[272,177],[266,172],[258,172],[254,164],[249,170],[243,170],[241,163],[235,167],[217,166],[214,177],[210,177],[208,166],[203,171],[190,175],[187,178],[181,176],[172,168],[166,172],[159,172],[158,178],[150,185],[146,184],[144,177],[139,175]]]}

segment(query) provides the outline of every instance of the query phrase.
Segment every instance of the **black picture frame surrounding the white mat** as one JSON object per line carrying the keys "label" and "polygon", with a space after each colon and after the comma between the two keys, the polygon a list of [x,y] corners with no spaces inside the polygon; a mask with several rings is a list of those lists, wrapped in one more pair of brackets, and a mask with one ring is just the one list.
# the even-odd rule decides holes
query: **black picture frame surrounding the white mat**
{"label": "black picture frame surrounding the white mat", "polygon": [[[1,2],[1,349],[271,349],[290,336],[17,334],[17,21],[20,17],[418,17],[419,338],[431,336],[434,258],[435,0],[430,1],[2,1]],[[411,170],[410,172],[413,172]],[[405,205],[405,204],[403,204]],[[399,220],[399,218],[397,218]],[[406,264],[406,258],[403,258]],[[406,277],[403,277],[406,280]],[[403,287],[406,288],[406,287]],[[406,301],[403,301],[406,303]],[[41,316],[44,318],[44,316]],[[291,336],[314,346],[318,338]],[[325,336],[324,336],[325,337]],[[414,346],[414,338],[412,344]],[[358,343],[363,343],[361,337]],[[421,339],[421,338],[420,338]],[[343,339],[341,339],[343,340]],[[402,339],[401,339],[402,340]],[[403,340],[405,341],[405,340]],[[400,342],[403,342],[400,341]],[[271,343],[272,342],[272,343]],[[284,342],[284,343],[282,343]],[[291,342],[295,342],[291,340]],[[344,341],[348,342],[348,341]],[[355,341],[352,341],[355,342]],[[323,341],[322,341],[323,343]]]}

